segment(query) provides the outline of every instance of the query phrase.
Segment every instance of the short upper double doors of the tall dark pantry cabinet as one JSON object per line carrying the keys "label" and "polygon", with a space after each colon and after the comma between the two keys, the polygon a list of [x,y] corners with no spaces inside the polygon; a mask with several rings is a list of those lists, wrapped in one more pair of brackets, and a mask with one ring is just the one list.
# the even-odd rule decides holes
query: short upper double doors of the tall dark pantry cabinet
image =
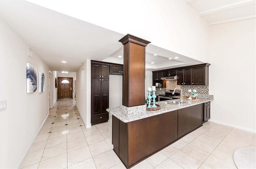
{"label": "short upper double doors of the tall dark pantry cabinet", "polygon": [[92,63],[92,78],[109,78],[109,65]]}

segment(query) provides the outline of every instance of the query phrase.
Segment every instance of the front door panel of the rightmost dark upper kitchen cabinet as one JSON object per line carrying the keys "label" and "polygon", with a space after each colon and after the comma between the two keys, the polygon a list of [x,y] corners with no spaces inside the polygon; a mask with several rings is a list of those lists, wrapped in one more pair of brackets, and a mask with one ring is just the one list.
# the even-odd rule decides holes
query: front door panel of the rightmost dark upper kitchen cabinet
{"label": "front door panel of the rightmost dark upper kitchen cabinet", "polygon": [[205,85],[205,66],[192,67],[192,85]]}

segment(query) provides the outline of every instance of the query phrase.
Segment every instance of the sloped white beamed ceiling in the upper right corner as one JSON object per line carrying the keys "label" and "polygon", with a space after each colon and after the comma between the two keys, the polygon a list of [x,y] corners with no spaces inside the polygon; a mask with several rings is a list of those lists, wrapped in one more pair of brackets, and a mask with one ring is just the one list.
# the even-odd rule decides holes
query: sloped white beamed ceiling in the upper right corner
{"label": "sloped white beamed ceiling in the upper right corner", "polygon": [[256,0],[184,0],[210,25],[255,18]]}

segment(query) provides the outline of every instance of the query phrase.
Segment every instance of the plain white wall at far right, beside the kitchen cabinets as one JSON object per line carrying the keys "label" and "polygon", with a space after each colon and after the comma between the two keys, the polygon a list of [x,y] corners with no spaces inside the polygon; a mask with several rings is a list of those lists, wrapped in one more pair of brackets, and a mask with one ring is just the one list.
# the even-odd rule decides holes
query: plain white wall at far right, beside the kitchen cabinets
{"label": "plain white wall at far right, beside the kitchen cabinets", "polygon": [[[210,26],[211,120],[255,132],[255,19]],[[218,93],[215,93],[215,91]]]}

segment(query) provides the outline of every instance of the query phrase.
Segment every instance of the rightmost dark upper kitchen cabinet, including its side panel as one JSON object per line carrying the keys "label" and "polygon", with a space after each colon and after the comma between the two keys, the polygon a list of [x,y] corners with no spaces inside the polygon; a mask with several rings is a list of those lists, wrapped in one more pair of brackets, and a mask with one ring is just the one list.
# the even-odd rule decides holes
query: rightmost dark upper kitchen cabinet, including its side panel
{"label": "rightmost dark upper kitchen cabinet, including its side panel", "polygon": [[209,66],[192,67],[192,85],[208,85]]}

